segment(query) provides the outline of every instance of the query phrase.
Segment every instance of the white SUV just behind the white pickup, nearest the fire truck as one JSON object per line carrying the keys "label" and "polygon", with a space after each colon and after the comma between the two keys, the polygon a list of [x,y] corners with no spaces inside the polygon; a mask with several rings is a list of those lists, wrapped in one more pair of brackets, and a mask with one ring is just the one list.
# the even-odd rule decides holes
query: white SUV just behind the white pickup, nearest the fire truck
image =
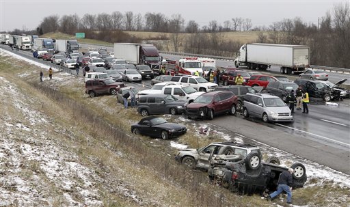
{"label": "white SUV just behind the white pickup, nearest the fire truck", "polygon": [[191,85],[197,89],[198,92],[211,92],[217,87],[216,83],[208,82],[203,77],[194,75],[174,76],[172,79],[170,79],[170,81],[185,85]]}

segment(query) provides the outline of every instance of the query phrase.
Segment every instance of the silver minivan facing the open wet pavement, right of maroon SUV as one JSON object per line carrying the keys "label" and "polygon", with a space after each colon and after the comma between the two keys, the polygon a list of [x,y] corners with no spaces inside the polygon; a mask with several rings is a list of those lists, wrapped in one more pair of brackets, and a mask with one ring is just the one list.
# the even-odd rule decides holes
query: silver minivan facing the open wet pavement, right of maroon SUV
{"label": "silver minivan facing the open wet pavement, right of maroon SUV", "polygon": [[264,122],[294,122],[291,109],[280,97],[271,94],[245,94],[243,115],[262,118]]}

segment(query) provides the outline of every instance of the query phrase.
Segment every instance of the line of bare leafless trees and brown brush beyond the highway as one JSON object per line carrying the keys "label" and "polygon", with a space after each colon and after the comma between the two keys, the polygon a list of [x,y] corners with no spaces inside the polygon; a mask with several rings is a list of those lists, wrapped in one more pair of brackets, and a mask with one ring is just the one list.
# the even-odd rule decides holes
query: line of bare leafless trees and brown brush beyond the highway
{"label": "line of bare leafless trees and brown brush beyond the highway", "polygon": [[[305,23],[301,18],[283,19],[269,26],[254,27],[249,18],[234,17],[224,23],[211,20],[200,27],[195,20],[187,23],[180,14],[170,17],[165,14],[148,12],[144,15],[133,12],[113,12],[112,14],[51,15],[42,19],[36,32],[62,31],[74,35],[85,32],[86,38],[107,42],[140,42],[123,31],[153,31],[170,33],[159,36],[159,40],[169,40],[171,47],[157,44],[160,50],[185,53],[234,57],[241,44],[224,38],[228,31],[258,31],[254,42],[273,44],[306,44],[310,46],[310,63],[321,66],[350,68],[350,12],[349,2],[334,5],[334,8],[319,19],[319,24]],[[16,29],[13,33],[23,33]],[[182,33],[189,35],[183,36]]]}

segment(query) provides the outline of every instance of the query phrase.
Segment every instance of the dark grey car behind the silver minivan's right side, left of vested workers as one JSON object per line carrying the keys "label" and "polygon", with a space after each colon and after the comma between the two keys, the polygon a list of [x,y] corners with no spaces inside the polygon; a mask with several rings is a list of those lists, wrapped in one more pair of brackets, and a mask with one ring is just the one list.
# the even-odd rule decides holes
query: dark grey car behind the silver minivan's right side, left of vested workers
{"label": "dark grey car behind the silver minivan's right side, left of vested workers", "polygon": [[290,81],[272,81],[267,85],[266,92],[280,97],[284,102],[286,102],[286,97],[294,90],[297,91],[298,85]]}

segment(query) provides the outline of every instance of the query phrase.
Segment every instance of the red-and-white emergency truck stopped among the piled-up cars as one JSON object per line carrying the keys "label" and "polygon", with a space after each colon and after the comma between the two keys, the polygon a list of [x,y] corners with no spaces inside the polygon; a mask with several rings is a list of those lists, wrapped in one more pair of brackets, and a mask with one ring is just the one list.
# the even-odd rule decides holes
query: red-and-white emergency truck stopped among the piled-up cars
{"label": "red-and-white emergency truck stopped among the piled-up cars", "polygon": [[185,57],[178,61],[167,59],[165,64],[167,74],[189,74],[194,75],[198,71],[199,76],[202,76],[202,63],[197,57]]}

